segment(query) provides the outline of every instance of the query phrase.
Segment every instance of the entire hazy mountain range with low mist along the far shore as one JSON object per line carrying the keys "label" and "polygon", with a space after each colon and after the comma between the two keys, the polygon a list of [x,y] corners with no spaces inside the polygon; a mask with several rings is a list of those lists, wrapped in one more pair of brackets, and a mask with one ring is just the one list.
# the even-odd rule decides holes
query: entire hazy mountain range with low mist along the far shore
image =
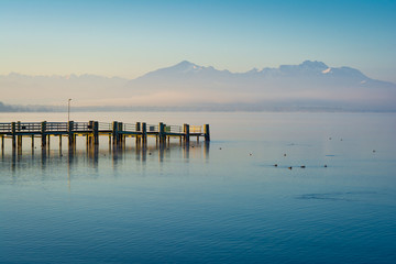
{"label": "entire hazy mountain range with low mist along the far shore", "polygon": [[81,109],[396,111],[396,85],[321,62],[218,70],[190,62],[135,79],[95,75],[0,76],[1,101]]}

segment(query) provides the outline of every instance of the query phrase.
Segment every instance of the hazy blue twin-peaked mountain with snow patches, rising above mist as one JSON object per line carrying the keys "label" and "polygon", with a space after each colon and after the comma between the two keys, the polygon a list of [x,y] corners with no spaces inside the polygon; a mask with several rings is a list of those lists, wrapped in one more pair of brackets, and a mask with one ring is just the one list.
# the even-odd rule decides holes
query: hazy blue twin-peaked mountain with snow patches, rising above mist
{"label": "hazy blue twin-peaked mountain with snow patches, rising above mist", "polygon": [[124,91],[139,95],[144,102],[169,106],[253,103],[396,109],[395,84],[371,79],[354,68],[310,61],[246,73],[217,70],[185,61],[130,80]]}

